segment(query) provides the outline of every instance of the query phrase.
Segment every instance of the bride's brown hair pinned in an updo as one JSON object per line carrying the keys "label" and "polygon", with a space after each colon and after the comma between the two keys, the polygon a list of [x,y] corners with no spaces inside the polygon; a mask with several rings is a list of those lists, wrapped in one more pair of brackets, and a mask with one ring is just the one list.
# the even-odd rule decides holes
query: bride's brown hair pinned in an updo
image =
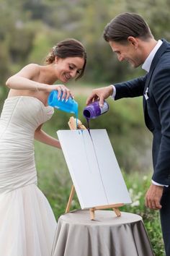
{"label": "bride's brown hair pinned in an updo", "polygon": [[80,57],[84,59],[84,67],[81,69],[79,76],[76,80],[81,78],[84,74],[84,69],[86,67],[86,51],[82,43],[76,39],[66,39],[59,42],[56,46],[53,46],[52,50],[45,59],[46,64],[52,64],[55,61],[55,56],[61,59],[66,59],[68,57]]}

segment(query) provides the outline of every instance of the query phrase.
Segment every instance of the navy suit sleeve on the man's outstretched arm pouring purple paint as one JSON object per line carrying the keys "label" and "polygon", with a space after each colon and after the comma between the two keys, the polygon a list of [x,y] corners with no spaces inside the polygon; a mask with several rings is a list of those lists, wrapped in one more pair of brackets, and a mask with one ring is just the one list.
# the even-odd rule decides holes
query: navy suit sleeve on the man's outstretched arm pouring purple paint
{"label": "navy suit sleeve on the man's outstretched arm pouring purple paint", "polygon": [[146,79],[147,74],[134,80],[114,84],[116,88],[115,101],[120,98],[133,98],[143,95]]}

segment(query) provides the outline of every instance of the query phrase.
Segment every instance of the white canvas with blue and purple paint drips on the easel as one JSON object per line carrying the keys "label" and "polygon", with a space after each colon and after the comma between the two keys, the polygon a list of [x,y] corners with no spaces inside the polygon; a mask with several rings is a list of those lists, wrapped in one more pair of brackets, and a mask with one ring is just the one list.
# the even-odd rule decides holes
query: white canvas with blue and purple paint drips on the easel
{"label": "white canvas with blue and purple paint drips on the easel", "polygon": [[106,129],[57,134],[82,209],[131,202]]}

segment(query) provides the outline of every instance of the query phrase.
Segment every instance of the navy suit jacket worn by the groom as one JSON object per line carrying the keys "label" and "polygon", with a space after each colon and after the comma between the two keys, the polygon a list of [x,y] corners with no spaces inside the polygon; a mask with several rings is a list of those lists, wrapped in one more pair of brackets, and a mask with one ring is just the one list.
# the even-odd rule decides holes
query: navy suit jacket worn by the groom
{"label": "navy suit jacket worn by the groom", "polygon": [[115,88],[115,100],[143,95],[146,126],[153,133],[153,181],[170,185],[170,43],[163,40],[145,76]]}

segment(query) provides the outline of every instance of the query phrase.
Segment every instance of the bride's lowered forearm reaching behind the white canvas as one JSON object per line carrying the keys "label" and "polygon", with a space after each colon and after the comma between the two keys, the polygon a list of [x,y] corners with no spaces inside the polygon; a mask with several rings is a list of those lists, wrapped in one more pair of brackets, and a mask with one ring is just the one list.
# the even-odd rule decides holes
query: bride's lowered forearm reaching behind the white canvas
{"label": "bride's lowered forearm reaching behind the white canvas", "polygon": [[51,137],[46,132],[42,131],[42,129],[40,128],[41,126],[35,130],[35,140],[38,140],[42,143],[53,146],[55,148],[61,148],[61,143],[59,142],[59,140],[56,140],[54,137]]}

